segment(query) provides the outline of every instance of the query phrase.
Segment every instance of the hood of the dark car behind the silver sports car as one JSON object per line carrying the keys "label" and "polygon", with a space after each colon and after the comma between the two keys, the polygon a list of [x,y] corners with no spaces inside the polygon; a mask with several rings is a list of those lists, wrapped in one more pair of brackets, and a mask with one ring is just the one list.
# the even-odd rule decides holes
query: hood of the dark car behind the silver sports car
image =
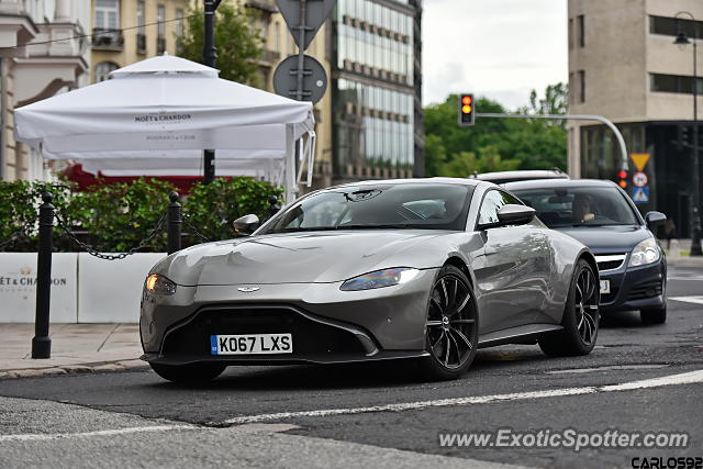
{"label": "hood of the dark car behind the silver sports car", "polygon": [[632,250],[637,243],[651,237],[645,226],[594,226],[558,228],[591,248],[593,254],[618,254]]}

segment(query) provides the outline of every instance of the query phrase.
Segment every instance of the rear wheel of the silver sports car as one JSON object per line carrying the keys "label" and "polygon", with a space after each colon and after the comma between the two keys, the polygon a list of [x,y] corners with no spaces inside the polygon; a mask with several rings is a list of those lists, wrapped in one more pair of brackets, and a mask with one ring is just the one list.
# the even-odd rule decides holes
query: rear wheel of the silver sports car
{"label": "rear wheel of the silver sports car", "polygon": [[[589,279],[589,280],[585,280]],[[587,290],[585,295],[582,290]],[[593,269],[583,259],[577,263],[569,287],[561,325],[563,330],[539,338],[542,351],[550,356],[588,355],[599,331],[600,292]]]}

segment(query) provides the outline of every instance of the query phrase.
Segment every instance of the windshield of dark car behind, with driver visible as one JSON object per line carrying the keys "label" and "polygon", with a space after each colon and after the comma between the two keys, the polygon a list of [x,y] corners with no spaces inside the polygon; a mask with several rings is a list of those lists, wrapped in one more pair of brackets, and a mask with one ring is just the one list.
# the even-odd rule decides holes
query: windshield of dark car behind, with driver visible
{"label": "windshield of dark car behind, with driver visible", "polygon": [[620,190],[612,187],[569,187],[512,190],[550,228],[638,224]]}

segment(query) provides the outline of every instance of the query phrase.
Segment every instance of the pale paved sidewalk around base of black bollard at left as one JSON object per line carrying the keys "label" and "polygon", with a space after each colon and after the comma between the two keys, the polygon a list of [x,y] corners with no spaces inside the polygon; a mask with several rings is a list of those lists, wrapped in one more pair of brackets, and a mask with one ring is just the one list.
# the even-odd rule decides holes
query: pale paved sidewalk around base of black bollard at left
{"label": "pale paved sidewalk around base of black bollard at left", "polygon": [[52,358],[32,358],[34,324],[0,324],[0,380],[146,368],[137,324],[52,324]]}

